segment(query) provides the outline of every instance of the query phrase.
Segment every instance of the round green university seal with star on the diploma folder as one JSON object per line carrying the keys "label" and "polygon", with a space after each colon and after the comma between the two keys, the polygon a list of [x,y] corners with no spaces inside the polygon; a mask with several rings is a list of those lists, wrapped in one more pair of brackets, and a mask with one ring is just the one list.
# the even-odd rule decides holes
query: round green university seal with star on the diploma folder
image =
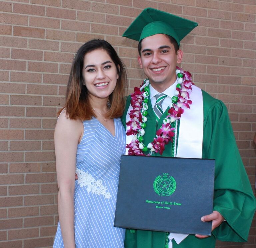
{"label": "round green university seal with star on the diploma folder", "polygon": [[163,173],[162,176],[158,176],[153,187],[155,192],[161,196],[170,196],[176,189],[176,181],[173,177],[168,176],[168,173]]}

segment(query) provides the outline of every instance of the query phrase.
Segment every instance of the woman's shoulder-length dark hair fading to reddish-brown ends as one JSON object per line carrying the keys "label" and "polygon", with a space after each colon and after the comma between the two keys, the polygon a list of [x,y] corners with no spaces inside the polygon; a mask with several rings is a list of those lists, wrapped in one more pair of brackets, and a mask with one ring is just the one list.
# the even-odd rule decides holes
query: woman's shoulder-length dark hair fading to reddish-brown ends
{"label": "woman's shoulder-length dark hair fading to reddish-brown ends", "polygon": [[127,86],[127,76],[125,66],[118,57],[115,49],[105,40],[94,39],[82,45],[73,60],[66,92],[65,106],[67,116],[70,119],[90,120],[95,113],[89,102],[89,94],[83,79],[84,56],[93,50],[105,50],[114,62],[118,79],[114,91],[108,99],[108,111],[106,118],[117,118],[122,116],[125,106],[125,86]]}

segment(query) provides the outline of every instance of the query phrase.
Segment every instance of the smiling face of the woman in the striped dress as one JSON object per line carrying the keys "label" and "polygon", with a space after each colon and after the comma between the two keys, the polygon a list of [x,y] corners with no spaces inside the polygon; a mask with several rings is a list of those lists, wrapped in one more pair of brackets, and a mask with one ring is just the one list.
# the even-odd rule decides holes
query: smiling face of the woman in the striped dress
{"label": "smiling face of the woman in the striped dress", "polygon": [[92,99],[108,98],[116,87],[117,68],[104,49],[96,49],[84,56],[83,80]]}

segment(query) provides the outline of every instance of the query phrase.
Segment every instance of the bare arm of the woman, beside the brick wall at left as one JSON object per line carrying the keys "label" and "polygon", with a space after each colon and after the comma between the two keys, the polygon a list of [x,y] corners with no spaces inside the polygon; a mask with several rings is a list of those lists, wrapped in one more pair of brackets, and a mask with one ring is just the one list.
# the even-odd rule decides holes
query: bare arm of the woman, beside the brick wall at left
{"label": "bare arm of the woman, beside the brick wall at left", "polygon": [[58,211],[64,247],[75,248],[74,188],[77,144],[83,134],[83,124],[67,119],[63,111],[54,132],[56,171],[58,181]]}

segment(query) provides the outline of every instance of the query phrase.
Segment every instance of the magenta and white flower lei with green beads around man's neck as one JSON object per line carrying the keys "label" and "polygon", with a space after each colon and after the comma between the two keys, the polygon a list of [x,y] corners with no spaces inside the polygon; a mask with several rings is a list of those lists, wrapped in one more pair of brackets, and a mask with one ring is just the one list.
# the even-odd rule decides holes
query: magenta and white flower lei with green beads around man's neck
{"label": "magenta and white flower lei with green beads around man's neck", "polygon": [[143,135],[145,134],[144,128],[146,127],[148,114],[148,97],[149,97],[149,80],[146,79],[142,83],[142,88],[135,87],[134,93],[131,94],[131,106],[130,120],[126,123],[129,130],[126,132],[127,135],[134,135],[130,144],[126,145],[128,149],[128,155],[139,155],[145,156],[144,152],[150,151],[147,155],[150,156],[153,153],[163,154],[165,145],[169,141],[173,142],[172,137],[174,136],[175,128],[171,127],[171,123],[179,120],[184,112],[182,108],[190,108],[192,104],[189,99],[189,93],[192,91],[191,85],[194,83],[191,81],[191,74],[188,71],[183,71],[182,68],[176,67],[176,75],[178,78],[178,84],[172,97],[172,103],[166,118],[163,120],[162,127],[156,131],[156,138],[145,146],[142,142],[144,140]]}

